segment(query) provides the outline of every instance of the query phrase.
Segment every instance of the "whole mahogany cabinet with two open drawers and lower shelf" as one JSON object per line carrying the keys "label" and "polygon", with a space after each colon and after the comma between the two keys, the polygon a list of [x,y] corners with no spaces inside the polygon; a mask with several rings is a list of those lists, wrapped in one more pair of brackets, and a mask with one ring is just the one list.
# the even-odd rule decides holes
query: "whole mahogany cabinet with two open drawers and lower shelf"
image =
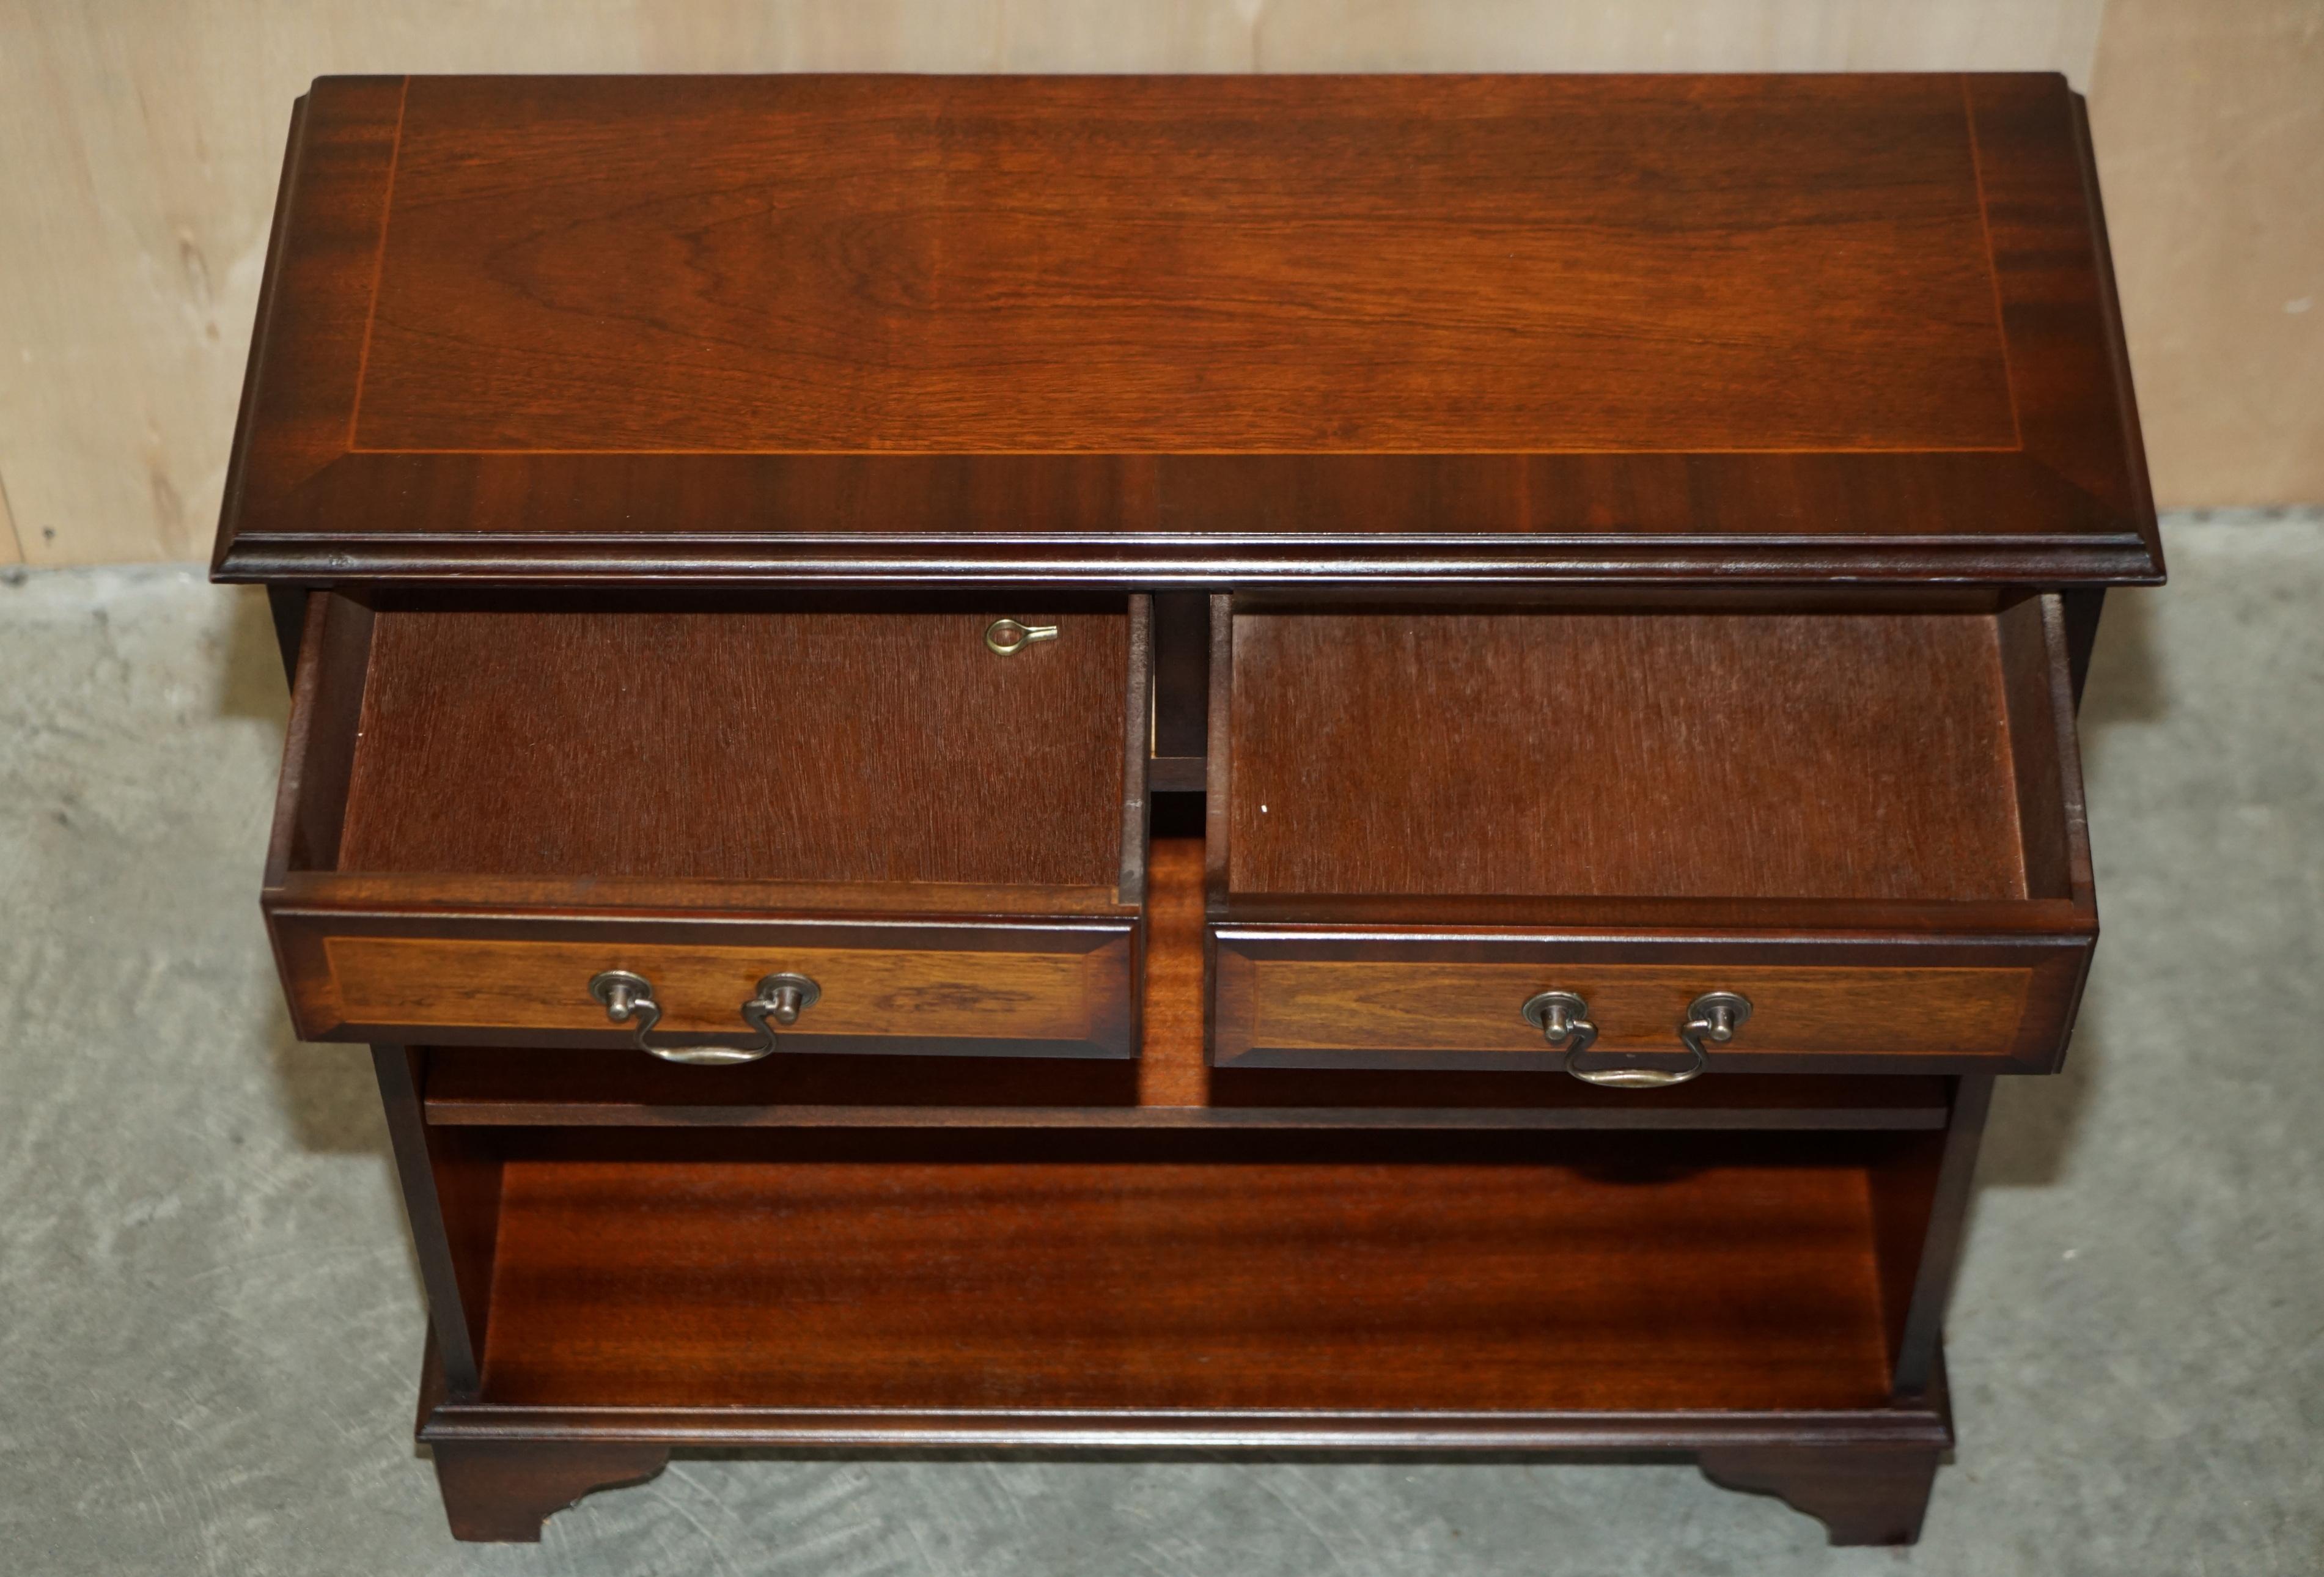
{"label": "whole mahogany cabinet with two open drawers and lower shelf", "polygon": [[2061,79],[323,79],[214,571],[460,1538],[679,1447],[1915,1538],[2161,578]]}

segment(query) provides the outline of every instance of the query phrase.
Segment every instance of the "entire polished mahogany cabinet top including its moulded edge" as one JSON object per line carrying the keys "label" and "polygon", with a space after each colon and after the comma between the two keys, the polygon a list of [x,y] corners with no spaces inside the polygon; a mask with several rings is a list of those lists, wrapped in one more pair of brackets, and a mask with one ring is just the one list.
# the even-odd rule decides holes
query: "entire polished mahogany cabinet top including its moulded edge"
{"label": "entire polished mahogany cabinet top including its moulded edge", "polygon": [[323,79],[256,581],[2159,576],[2057,77]]}

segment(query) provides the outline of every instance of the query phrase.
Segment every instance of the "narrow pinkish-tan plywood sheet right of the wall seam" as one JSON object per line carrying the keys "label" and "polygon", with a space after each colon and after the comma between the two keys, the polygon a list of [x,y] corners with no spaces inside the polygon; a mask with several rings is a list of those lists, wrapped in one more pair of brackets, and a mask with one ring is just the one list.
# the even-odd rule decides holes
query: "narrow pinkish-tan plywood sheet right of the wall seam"
{"label": "narrow pinkish-tan plywood sheet right of the wall seam", "polygon": [[2110,0],[2089,121],[2157,502],[2324,499],[2324,2]]}

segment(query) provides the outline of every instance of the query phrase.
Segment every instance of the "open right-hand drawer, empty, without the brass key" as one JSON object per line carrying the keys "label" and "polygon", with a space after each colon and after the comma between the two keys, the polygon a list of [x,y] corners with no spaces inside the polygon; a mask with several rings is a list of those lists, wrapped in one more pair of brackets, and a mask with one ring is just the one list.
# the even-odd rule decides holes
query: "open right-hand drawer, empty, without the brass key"
{"label": "open right-hand drawer, empty, without the brass key", "polygon": [[1206,908],[1218,1066],[2054,1071],[2059,602],[1213,599]]}

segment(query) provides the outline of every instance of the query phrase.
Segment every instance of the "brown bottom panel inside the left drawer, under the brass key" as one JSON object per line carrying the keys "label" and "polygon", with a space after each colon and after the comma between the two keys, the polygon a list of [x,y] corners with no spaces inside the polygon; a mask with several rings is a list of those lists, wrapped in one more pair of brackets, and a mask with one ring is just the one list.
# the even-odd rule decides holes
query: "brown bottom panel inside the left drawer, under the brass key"
{"label": "brown bottom panel inside the left drawer, under the brass key", "polygon": [[1122,613],[381,613],[342,871],[1116,887]]}

